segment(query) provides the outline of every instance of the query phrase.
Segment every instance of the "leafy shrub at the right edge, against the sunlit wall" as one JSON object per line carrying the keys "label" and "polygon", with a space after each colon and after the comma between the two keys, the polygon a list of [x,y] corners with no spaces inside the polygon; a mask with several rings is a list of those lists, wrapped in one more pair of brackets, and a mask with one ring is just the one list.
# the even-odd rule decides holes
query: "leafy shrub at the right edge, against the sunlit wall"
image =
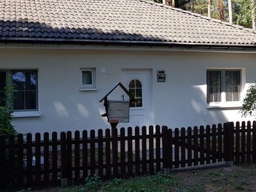
{"label": "leafy shrub at the right edge, against the sunlit wall", "polygon": [[256,83],[250,85],[243,99],[243,106],[241,109],[242,116],[256,115]]}

